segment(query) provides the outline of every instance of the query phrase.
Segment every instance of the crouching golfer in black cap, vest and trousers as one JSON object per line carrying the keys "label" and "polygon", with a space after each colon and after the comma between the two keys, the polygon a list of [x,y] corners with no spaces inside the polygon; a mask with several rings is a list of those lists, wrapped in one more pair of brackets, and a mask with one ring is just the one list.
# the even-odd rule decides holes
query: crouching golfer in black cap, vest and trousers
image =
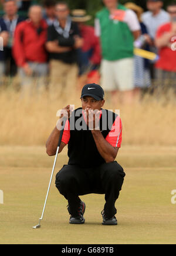
{"label": "crouching golfer in black cap, vest and trousers", "polygon": [[[68,201],[70,224],[84,224],[86,205],[80,195],[105,194],[106,204],[101,212],[103,225],[117,225],[115,202],[123,185],[125,173],[114,159],[121,147],[121,119],[119,115],[102,109],[104,91],[100,85],[85,85],[82,108],[70,114],[59,152],[68,144],[68,165],[56,175],[56,187]],[[62,119],[46,143],[47,153],[56,154]]]}

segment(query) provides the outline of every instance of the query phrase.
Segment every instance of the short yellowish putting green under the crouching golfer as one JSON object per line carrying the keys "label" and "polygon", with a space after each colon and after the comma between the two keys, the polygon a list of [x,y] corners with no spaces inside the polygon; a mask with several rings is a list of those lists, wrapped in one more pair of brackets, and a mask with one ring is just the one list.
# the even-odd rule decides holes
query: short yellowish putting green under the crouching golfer
{"label": "short yellowish putting green under the crouching golfer", "polygon": [[0,147],[0,244],[176,244],[176,147],[120,149],[117,161],[126,179],[116,202],[119,225],[101,225],[104,195],[81,197],[84,225],[69,225],[67,202],[55,188],[56,172],[67,163],[66,150],[57,159],[42,227],[42,214],[53,157],[45,147]]}

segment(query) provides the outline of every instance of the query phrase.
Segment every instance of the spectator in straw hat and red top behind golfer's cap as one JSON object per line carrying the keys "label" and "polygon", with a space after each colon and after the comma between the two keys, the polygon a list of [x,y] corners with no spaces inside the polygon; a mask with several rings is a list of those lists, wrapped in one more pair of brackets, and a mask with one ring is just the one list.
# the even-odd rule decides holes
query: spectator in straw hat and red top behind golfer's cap
{"label": "spectator in straw hat and red top behind golfer's cap", "polygon": [[92,17],[83,9],[72,11],[72,21],[76,22],[80,36],[83,38],[82,49],[77,51],[79,63],[79,88],[92,82],[99,83],[100,75],[98,68],[101,62],[101,48],[99,38],[95,35],[94,28],[86,25]]}

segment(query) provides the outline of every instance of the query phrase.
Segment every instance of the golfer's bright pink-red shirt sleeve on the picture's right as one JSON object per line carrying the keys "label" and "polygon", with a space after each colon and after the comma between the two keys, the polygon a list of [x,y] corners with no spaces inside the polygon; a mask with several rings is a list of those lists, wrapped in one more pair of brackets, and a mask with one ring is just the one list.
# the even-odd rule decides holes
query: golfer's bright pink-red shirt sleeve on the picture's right
{"label": "golfer's bright pink-red shirt sleeve on the picture's right", "polygon": [[121,119],[118,116],[111,128],[111,131],[106,137],[106,141],[113,147],[120,148],[122,141],[122,124]]}

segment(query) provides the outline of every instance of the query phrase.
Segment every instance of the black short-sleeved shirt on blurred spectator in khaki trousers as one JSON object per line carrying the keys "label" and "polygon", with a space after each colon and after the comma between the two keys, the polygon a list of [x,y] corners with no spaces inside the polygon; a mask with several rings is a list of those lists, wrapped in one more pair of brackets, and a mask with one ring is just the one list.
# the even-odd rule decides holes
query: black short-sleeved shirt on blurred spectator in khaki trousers
{"label": "black short-sleeved shirt on blurred spectator in khaki trousers", "polygon": [[[70,31],[69,31],[69,38],[65,38],[62,34],[59,34],[58,31],[56,31],[55,26],[51,25],[48,27],[48,39],[47,41],[58,41],[58,45],[63,46],[63,47],[73,47],[75,45],[75,35],[80,35],[79,34],[79,29],[78,26],[75,22],[72,22],[70,26]],[[76,50],[72,49],[69,52],[63,52],[63,53],[55,53],[52,52],[49,54],[49,59],[56,59],[59,61],[63,61],[67,64],[72,64],[76,62],[77,60],[77,54]]]}

